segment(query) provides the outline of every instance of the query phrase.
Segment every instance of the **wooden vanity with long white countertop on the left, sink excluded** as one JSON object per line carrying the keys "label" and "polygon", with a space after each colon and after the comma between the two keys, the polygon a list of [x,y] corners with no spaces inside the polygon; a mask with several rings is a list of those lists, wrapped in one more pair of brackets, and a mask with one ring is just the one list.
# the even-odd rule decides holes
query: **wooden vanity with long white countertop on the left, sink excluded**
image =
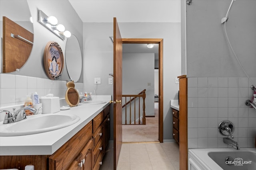
{"label": "wooden vanity with long white countertop on the left, sink excluded", "polygon": [[[0,137],[0,169],[34,165],[36,170],[98,170],[110,139],[111,96],[102,104],[71,107],[54,114],[74,114],[73,125],[34,135]],[[33,127],[31,127],[33,128]]]}

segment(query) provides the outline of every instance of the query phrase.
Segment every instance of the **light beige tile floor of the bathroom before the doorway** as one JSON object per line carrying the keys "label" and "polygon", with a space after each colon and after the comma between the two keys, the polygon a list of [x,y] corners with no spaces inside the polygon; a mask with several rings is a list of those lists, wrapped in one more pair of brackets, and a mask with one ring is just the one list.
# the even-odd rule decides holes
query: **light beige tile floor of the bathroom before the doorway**
{"label": "light beige tile floor of the bathroom before the doorway", "polygon": [[[113,143],[110,143],[100,170],[113,170]],[[177,143],[122,144],[117,170],[179,170]]]}

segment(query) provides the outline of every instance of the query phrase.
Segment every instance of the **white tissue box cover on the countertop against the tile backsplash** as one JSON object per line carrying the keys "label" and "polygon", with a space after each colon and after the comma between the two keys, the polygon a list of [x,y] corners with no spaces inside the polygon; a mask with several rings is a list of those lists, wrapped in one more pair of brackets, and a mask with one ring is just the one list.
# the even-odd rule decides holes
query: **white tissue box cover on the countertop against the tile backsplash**
{"label": "white tissue box cover on the countertop against the tile backsplash", "polygon": [[56,113],[60,111],[60,98],[59,97],[46,97],[40,98],[42,103],[42,114]]}

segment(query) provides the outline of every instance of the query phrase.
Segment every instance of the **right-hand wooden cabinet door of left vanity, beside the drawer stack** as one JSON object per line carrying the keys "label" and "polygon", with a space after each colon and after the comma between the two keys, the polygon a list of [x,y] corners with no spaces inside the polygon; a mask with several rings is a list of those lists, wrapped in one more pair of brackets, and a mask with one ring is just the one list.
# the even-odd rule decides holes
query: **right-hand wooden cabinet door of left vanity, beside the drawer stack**
{"label": "right-hand wooden cabinet door of left vanity, beside the drawer stack", "polygon": [[92,140],[87,143],[81,154],[81,170],[92,170]]}

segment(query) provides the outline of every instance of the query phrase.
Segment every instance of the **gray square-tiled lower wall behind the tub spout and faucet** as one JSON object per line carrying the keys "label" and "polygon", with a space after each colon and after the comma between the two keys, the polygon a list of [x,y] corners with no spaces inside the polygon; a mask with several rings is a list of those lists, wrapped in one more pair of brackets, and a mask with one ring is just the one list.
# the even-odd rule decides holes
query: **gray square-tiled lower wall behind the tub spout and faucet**
{"label": "gray square-tiled lower wall behind the tub spout and faucet", "polygon": [[188,78],[189,149],[228,147],[218,132],[222,120],[234,123],[233,140],[240,147],[255,147],[256,110],[244,104],[252,98],[251,85],[244,77]]}

